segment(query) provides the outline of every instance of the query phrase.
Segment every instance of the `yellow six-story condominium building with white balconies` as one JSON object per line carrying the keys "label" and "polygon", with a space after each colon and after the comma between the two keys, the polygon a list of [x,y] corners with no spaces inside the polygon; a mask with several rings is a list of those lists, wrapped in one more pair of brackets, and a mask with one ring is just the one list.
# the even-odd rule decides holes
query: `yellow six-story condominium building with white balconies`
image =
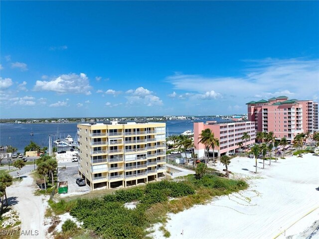
{"label": "yellow six-story condominium building with white balconies", "polygon": [[92,190],[126,188],[165,175],[165,123],[83,123],[77,137],[79,175]]}

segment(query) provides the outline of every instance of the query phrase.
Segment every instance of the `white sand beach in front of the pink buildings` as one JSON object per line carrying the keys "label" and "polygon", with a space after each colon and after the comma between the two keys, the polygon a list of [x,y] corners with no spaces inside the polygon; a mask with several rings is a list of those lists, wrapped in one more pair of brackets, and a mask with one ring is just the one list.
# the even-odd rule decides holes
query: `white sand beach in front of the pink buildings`
{"label": "white sand beach in front of the pink buildings", "polygon": [[[279,159],[277,163],[236,157],[231,177],[246,178],[250,187],[242,192],[215,198],[178,214],[169,214],[165,226],[173,239],[272,239],[306,238],[319,220],[319,157],[304,154]],[[217,169],[224,166],[217,163]],[[313,211],[314,209],[316,209]],[[309,215],[309,212],[313,211]],[[307,216],[305,216],[307,215]],[[159,228],[156,225],[154,228]],[[316,227],[315,227],[316,228]],[[286,231],[285,231],[286,230]],[[305,237],[298,236],[311,231]],[[281,234],[282,233],[282,234]],[[285,236],[284,236],[285,235]],[[161,231],[151,234],[163,238]],[[313,238],[318,238],[319,233]]]}

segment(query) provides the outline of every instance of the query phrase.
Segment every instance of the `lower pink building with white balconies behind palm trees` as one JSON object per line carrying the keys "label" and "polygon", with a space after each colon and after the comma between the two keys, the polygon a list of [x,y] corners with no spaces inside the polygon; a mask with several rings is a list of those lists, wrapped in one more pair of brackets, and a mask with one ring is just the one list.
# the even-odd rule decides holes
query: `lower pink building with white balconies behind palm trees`
{"label": "lower pink building with white balconies behind palm trees", "polygon": [[[215,138],[219,140],[219,147],[215,146],[214,153],[215,156],[220,156],[221,154],[228,154],[229,151],[238,149],[238,143],[243,142],[249,145],[255,143],[255,122],[243,121],[240,119],[233,119],[227,122],[217,122],[217,121],[207,121],[194,123],[194,145],[195,153],[199,158],[204,156],[205,146],[199,143],[199,137],[202,130],[210,129]],[[243,141],[241,137],[247,132],[250,135],[250,139],[247,142]],[[209,153],[212,153],[212,148],[209,149]]]}

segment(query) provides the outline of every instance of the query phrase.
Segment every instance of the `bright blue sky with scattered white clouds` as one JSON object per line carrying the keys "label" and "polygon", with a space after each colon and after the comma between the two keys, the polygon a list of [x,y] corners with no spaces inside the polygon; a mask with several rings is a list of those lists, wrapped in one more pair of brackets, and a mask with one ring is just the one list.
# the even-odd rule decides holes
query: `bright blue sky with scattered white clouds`
{"label": "bright blue sky with scattered white clouds", "polygon": [[319,97],[318,1],[1,1],[0,118]]}

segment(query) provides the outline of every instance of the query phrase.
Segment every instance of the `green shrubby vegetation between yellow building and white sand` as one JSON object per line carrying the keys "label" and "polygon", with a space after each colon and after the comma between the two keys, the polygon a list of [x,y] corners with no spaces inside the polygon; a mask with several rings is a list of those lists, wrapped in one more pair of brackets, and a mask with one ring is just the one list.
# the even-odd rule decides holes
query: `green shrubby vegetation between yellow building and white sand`
{"label": "green shrubby vegetation between yellow building and white sand", "polygon": [[[238,192],[247,187],[242,180],[228,180],[213,175],[196,179],[189,175],[181,182],[164,180],[149,183],[143,187],[118,190],[102,199],[61,200],[58,203],[49,201],[49,205],[57,215],[69,212],[83,223],[84,229],[102,238],[142,239],[147,237],[146,229],[152,224],[165,223],[169,212],[177,213],[195,204],[203,204],[213,196]],[[136,208],[126,208],[124,204],[129,202],[135,202]],[[164,227],[161,230],[164,237],[170,236]],[[66,238],[69,233],[63,231],[56,238]]]}

